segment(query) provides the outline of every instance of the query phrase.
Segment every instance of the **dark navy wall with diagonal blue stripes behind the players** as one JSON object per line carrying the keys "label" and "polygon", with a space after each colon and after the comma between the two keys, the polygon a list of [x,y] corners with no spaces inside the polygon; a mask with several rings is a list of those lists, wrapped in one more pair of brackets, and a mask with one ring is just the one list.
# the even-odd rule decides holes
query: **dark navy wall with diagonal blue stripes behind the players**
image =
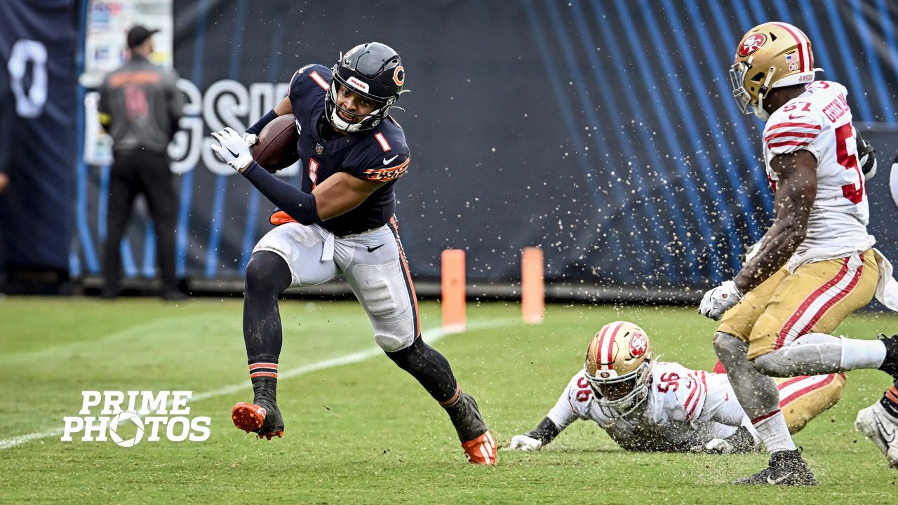
{"label": "dark navy wall with diagonal blue stripes behind the players", "polygon": [[[296,68],[370,40],[399,50],[408,72],[394,116],[412,163],[397,215],[418,279],[437,279],[440,252],[462,248],[470,281],[513,283],[528,245],[545,251],[549,281],[574,287],[728,279],[768,226],[772,193],[762,122],[736,110],[727,69],[744,31],[768,20],[806,31],[821,77],[848,86],[881,167],[867,186],[871,233],[898,259],[898,4],[887,0],[176,0],[174,11],[191,102],[177,261],[191,279],[241,278],[270,228],[269,203],[208,154],[209,130],[242,130]],[[76,174],[70,265],[85,276],[100,270],[109,169]],[[136,223],[123,247],[129,276],[154,275],[152,226]]]}

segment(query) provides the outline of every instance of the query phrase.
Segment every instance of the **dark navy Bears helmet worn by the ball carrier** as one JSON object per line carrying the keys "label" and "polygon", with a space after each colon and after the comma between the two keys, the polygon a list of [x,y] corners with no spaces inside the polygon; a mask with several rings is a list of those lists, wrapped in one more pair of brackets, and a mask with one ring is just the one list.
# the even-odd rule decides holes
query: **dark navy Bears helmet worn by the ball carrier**
{"label": "dark navy Bears helmet worn by the ball carrier", "polygon": [[[354,132],[371,129],[387,117],[393,103],[403,92],[405,68],[399,54],[389,46],[380,42],[360,44],[348,53],[341,54],[337,65],[333,67],[333,79],[330,81],[325,99],[325,114],[330,125],[339,131]],[[377,109],[366,116],[359,116],[341,109],[337,104],[339,85],[358,93],[378,104]],[[348,122],[337,114],[338,109],[349,116],[360,120]]]}

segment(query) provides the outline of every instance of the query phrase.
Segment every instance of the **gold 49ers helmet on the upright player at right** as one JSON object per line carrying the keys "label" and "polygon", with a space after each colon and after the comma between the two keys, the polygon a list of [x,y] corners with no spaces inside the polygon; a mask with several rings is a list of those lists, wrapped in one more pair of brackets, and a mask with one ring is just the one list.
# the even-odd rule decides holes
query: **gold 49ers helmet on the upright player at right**
{"label": "gold 49ers helmet on the upright player at right", "polygon": [[814,54],[804,31],[786,22],[765,22],[744,35],[730,67],[733,96],[743,114],[762,120],[763,101],[773,88],[814,81]]}

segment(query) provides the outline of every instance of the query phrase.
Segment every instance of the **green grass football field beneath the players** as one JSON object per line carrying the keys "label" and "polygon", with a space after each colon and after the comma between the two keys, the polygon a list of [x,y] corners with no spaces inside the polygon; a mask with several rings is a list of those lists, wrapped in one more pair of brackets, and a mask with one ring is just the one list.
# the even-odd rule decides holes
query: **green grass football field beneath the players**
{"label": "green grass football field beneath the players", "polygon": [[[542,419],[603,323],[641,324],[656,352],[687,367],[715,361],[715,323],[694,308],[556,305],[545,323],[527,326],[515,304],[478,304],[469,330],[452,335],[436,331],[439,308],[421,305],[426,334],[477,397],[500,447]],[[354,302],[282,302],[286,436],[253,439],[229,419],[233,403],[251,400],[241,311],[233,298],[0,299],[0,502],[869,505],[898,496],[898,472],[852,426],[887,385],[873,371],[851,373],[841,403],[796,437],[815,488],[735,487],[766,456],[630,454],[585,422],[540,453],[500,451],[496,467],[468,465],[445,413],[376,350]],[[896,330],[892,315],[855,315],[840,328],[863,338]],[[348,355],[357,362],[329,366]],[[59,440],[82,390],[129,389],[192,390],[200,399],[188,403],[190,416],[211,418],[210,438],[130,448]]]}

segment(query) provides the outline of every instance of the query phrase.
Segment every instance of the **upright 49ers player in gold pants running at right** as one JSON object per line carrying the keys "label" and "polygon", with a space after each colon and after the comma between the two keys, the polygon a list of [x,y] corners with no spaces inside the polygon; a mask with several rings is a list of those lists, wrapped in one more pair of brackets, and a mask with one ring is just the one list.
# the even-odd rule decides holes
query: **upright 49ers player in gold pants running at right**
{"label": "upright 49ers player in gold pants running at right", "polygon": [[[748,31],[730,70],[736,102],[767,120],[764,160],[776,194],[773,224],[753,254],[699,308],[723,318],[714,349],[770,450],[768,468],[736,483],[816,483],[789,436],[772,377],[879,368],[898,378],[898,338],[829,334],[874,295],[898,310],[898,283],[867,234],[864,171],[875,172],[873,149],[851,125],[848,91],[815,81],[818,70],[810,40],[784,22]],[[898,442],[889,446],[877,431],[883,423],[898,428],[898,403],[888,395],[856,424],[895,464]]]}

